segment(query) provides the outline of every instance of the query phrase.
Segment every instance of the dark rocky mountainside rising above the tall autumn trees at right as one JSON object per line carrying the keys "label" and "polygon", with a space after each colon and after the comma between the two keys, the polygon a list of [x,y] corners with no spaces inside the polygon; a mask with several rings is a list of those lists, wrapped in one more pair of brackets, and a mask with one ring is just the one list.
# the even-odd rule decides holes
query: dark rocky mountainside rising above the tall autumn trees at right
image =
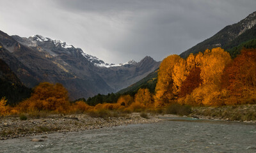
{"label": "dark rocky mountainside rising above the tall autumn trees at right", "polygon": [[211,38],[198,43],[194,47],[182,52],[180,57],[186,58],[189,54],[204,52],[207,48],[221,47],[225,50],[236,47],[244,41],[252,40],[256,36],[256,11],[248,15],[237,24],[227,25]]}

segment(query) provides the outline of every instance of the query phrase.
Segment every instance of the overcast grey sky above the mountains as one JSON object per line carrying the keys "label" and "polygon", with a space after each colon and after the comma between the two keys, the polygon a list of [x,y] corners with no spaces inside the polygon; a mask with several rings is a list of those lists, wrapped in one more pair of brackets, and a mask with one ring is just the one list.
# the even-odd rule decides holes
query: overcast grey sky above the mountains
{"label": "overcast grey sky above the mountains", "polygon": [[255,0],[1,0],[0,30],[65,41],[108,63],[162,61],[253,11]]}

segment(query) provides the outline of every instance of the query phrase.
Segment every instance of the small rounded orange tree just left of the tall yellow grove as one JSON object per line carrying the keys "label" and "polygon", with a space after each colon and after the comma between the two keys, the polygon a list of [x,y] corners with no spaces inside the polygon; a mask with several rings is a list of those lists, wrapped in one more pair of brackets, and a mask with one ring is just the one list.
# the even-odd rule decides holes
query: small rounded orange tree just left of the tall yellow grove
{"label": "small rounded orange tree just left of the tall yellow grove", "polygon": [[141,103],[146,107],[152,105],[152,97],[148,89],[139,89],[134,98],[135,103]]}

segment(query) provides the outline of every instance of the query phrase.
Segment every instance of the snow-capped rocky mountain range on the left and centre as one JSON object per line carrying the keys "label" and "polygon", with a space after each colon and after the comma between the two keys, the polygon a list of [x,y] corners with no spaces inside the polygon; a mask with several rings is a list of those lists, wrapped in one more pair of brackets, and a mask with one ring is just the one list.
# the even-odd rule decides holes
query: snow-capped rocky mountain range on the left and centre
{"label": "snow-capped rocky mountain range on the left and centre", "polygon": [[[28,87],[39,82],[60,82],[72,99],[116,92],[158,68],[150,57],[140,62],[108,64],[60,40],[35,35],[8,36],[0,31],[3,59]],[[126,85],[126,86],[125,86]]]}

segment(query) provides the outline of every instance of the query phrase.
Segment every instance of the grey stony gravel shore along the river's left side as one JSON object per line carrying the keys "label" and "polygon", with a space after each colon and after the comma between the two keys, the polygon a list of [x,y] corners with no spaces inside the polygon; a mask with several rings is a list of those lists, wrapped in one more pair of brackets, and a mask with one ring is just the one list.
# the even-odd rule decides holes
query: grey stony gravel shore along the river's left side
{"label": "grey stony gravel shore along the river's left side", "polygon": [[127,114],[124,117],[90,117],[86,114],[50,115],[40,119],[20,120],[18,116],[0,117],[0,140],[23,136],[66,133],[88,129],[110,128],[127,124],[161,122],[163,119],[149,116],[145,119],[140,113]]}

